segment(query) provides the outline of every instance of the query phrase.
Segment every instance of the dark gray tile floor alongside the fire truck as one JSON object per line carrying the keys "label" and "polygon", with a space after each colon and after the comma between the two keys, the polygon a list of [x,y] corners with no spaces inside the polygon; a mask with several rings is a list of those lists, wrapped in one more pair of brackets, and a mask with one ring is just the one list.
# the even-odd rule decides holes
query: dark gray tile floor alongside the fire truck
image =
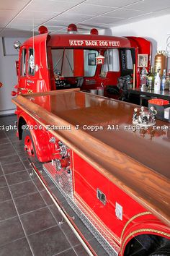
{"label": "dark gray tile floor alongside the fire truck", "polygon": [[[0,117],[0,256],[87,255],[40,181],[30,176],[32,170],[15,131],[3,130],[3,125],[14,125],[15,120],[16,116]],[[41,163],[35,161],[35,166],[42,169]],[[107,255],[43,175],[97,255]]]}

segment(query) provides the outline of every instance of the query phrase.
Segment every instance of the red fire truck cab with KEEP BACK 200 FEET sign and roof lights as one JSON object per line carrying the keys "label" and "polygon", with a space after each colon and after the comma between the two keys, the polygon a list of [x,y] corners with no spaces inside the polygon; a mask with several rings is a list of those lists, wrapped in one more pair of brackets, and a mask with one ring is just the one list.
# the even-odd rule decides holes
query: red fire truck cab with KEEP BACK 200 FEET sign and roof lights
{"label": "red fire truck cab with KEEP BACK 200 FEET sign and roof lights", "polygon": [[[109,98],[120,96],[117,88],[119,77],[130,75],[138,88],[140,70],[138,54],[148,56],[151,65],[151,42],[144,38],[118,38],[75,33],[74,25],[68,26],[67,35],[51,35],[40,27],[40,35],[25,41],[19,51],[19,82],[21,93],[81,88],[104,88]],[[33,50],[34,49],[34,50]]]}

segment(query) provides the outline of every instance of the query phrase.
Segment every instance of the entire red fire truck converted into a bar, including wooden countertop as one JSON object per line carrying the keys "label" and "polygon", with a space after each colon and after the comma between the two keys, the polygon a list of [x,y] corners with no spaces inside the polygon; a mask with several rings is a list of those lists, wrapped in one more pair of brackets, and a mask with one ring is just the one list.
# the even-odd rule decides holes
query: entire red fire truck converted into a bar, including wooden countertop
{"label": "entire red fire truck converted into a bar, including wooden countertop", "polygon": [[96,29],[79,35],[75,25],[67,35],[39,32],[20,47],[12,93],[24,150],[43,163],[109,255],[169,255],[169,129],[157,129],[164,121],[135,129],[135,106],[116,99],[125,89],[117,80],[129,76],[128,85],[139,87],[138,57],[148,56],[149,69],[151,42]]}

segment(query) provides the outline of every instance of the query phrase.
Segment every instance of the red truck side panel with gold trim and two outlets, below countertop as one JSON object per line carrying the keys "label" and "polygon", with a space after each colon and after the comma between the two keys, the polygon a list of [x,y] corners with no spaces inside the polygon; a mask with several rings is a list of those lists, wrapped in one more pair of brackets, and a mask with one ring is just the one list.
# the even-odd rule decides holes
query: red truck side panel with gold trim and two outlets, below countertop
{"label": "red truck side panel with gold trim and two outlets, below countertop", "polygon": [[[108,182],[107,178],[75,153],[73,153],[73,174],[75,196],[79,195],[81,203],[88,205],[92,215],[95,213],[95,216],[107,226],[118,244],[122,244],[130,233],[138,229],[151,229],[152,226],[153,229],[168,232],[167,227],[158,218],[115,184]],[[106,195],[106,205],[97,199],[97,189]],[[122,220],[116,216],[116,202],[122,206]],[[145,231],[140,233],[146,234]],[[147,233],[150,234],[149,231]]]}

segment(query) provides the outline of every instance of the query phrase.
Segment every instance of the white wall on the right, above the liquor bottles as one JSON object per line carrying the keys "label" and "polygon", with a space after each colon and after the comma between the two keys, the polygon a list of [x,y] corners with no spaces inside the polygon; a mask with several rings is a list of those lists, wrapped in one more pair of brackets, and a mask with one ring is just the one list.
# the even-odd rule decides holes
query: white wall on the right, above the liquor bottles
{"label": "white wall on the right, above the liquor bottles", "polygon": [[[169,0],[170,1],[170,0]],[[151,40],[153,46],[152,54],[152,65],[154,61],[154,56],[156,51],[166,51],[166,41],[169,38],[170,43],[170,14],[155,17],[147,20],[140,20],[138,22],[128,23],[126,25],[120,25],[117,27],[112,27],[108,30],[102,30],[104,35],[115,35],[115,36],[141,36],[148,40]],[[170,51],[170,48],[169,48]],[[169,52],[170,56],[170,52]],[[169,69],[170,69],[170,58]]]}

